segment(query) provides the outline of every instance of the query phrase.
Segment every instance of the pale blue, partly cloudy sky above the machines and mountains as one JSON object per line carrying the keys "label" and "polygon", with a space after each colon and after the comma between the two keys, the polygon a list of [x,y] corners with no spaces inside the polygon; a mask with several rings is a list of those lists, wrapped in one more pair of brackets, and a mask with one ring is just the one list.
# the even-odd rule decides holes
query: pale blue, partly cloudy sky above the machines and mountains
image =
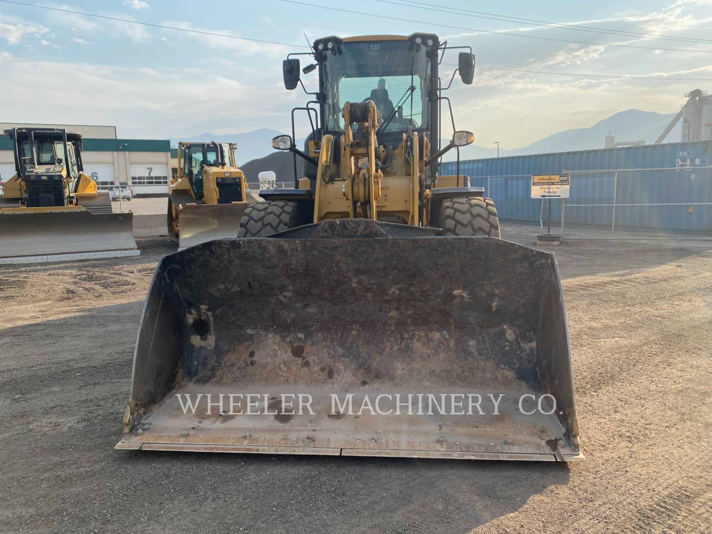
{"label": "pale blue, partly cloudy sky above the machines and mountains", "polygon": [[[471,46],[474,81],[456,78],[448,95],[456,127],[485,147],[523,147],[629,108],[676,112],[687,91],[712,89],[712,0],[23,3],[283,44],[0,1],[0,122],[116,125],[119,137],[132,138],[289,132],[291,108],[308,97],[284,88],[281,62],[330,35],[428,32]],[[442,78],[456,62],[456,51],[446,54]],[[315,75],[303,75],[307,88]],[[298,137],[306,128],[298,122]]]}

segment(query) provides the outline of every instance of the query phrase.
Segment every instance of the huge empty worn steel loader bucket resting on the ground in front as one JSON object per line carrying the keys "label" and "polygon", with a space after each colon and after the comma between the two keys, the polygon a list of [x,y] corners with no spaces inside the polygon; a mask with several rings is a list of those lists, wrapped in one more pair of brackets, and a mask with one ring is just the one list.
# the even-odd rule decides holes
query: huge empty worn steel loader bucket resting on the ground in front
{"label": "huge empty worn steel loader bucket resting on the ground in front", "polygon": [[554,256],[359,219],[173,253],[124,423],[117,449],[582,459]]}

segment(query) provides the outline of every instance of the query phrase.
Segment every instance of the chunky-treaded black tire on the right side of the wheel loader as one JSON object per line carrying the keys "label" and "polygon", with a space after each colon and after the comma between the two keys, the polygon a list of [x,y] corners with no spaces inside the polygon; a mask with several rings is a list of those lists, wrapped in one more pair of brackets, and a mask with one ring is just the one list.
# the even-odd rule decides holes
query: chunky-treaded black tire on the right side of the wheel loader
{"label": "chunky-treaded black tire on the right side of the wheel loader", "polygon": [[494,201],[483,197],[444,200],[438,223],[440,236],[501,236]]}

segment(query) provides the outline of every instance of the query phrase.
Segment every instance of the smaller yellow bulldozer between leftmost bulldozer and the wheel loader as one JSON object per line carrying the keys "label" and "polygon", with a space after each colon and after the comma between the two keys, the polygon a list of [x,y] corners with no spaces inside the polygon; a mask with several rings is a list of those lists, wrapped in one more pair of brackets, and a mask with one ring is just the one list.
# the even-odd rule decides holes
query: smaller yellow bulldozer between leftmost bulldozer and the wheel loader
{"label": "smaller yellow bulldozer between leftmost bulldozer and the wheel loader", "polygon": [[168,194],[168,235],[178,250],[236,236],[246,207],[257,201],[235,164],[235,148],[178,143],[178,177]]}

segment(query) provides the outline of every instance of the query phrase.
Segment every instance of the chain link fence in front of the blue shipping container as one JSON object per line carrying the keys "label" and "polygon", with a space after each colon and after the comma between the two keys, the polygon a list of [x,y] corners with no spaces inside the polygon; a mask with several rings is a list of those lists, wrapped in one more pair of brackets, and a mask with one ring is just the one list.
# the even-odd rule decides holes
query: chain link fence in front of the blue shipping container
{"label": "chain link fence in front of the blue shipping container", "polygon": [[[712,167],[564,171],[570,198],[552,200],[565,239],[712,239]],[[531,175],[471,177],[502,221],[545,227],[548,200],[531,198]]]}

